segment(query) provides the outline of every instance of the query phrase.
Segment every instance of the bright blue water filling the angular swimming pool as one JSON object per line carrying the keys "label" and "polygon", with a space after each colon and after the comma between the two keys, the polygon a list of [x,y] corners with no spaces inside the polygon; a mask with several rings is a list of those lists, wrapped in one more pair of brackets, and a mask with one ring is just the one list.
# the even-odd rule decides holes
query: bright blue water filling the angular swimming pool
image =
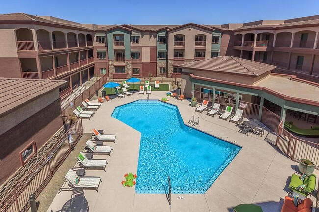
{"label": "bright blue water filling the angular swimming pool", "polygon": [[[141,132],[137,193],[205,193],[240,147],[184,125],[178,108],[139,100],[112,117]],[[130,170],[128,170],[129,172]]]}

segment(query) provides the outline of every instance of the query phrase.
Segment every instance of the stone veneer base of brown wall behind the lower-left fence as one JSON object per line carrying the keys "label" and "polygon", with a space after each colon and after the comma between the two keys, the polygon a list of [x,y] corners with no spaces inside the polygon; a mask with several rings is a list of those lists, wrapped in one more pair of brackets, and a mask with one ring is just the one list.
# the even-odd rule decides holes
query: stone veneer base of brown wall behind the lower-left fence
{"label": "stone veneer base of brown wall behind the lower-left fence", "polygon": [[40,149],[37,150],[36,154],[20,169],[18,169],[4,184],[0,187],[0,202],[3,198],[9,194],[17,184],[23,183],[21,180],[24,175],[32,171],[35,165],[45,156],[48,150],[51,149],[53,144],[59,140],[59,138],[65,133],[64,127],[61,127],[49,141],[47,141]]}

